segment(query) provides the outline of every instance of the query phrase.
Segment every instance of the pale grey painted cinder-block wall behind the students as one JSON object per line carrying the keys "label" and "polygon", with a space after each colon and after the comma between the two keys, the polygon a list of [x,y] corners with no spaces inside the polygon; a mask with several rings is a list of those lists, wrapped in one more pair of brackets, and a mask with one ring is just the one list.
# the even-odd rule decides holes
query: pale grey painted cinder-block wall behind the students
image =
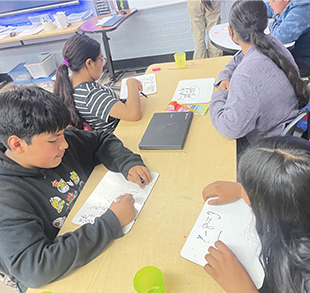
{"label": "pale grey painted cinder-block wall behind the students", "polygon": [[[228,20],[233,1],[222,1],[221,18]],[[101,42],[101,34],[89,34]],[[194,50],[187,4],[145,9],[126,20],[117,30],[108,33],[113,60],[165,55]],[[67,38],[65,36],[65,38]],[[0,72],[8,72],[20,62],[27,62],[42,52],[51,52],[57,64],[62,62],[61,50],[65,40],[56,38],[32,41],[32,45],[0,49]],[[30,43],[30,42],[26,42]],[[102,43],[102,42],[101,42]],[[0,47],[1,48],[1,47]]]}

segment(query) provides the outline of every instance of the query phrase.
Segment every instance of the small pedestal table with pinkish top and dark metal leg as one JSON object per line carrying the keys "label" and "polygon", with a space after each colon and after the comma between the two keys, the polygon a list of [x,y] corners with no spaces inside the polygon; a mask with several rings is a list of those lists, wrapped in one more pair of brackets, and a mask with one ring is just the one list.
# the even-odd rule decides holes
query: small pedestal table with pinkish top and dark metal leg
{"label": "small pedestal table with pinkish top and dark metal leg", "polygon": [[112,55],[111,55],[111,50],[110,50],[110,45],[109,45],[109,38],[107,36],[107,32],[116,30],[125,20],[127,20],[129,17],[131,17],[136,12],[138,12],[137,9],[124,9],[124,11],[126,11],[126,14],[123,15],[124,17],[112,26],[97,25],[99,20],[101,20],[104,17],[109,17],[111,16],[111,14],[106,14],[104,16],[91,17],[81,25],[81,30],[85,33],[101,33],[102,34],[102,42],[104,45],[104,51],[105,51],[106,58],[108,60],[107,65],[108,65],[109,76],[110,76],[110,81],[111,81],[110,84],[113,84],[115,81],[117,81],[122,76],[123,72],[120,72],[118,74],[118,73],[115,73],[114,71],[113,60],[112,60]]}

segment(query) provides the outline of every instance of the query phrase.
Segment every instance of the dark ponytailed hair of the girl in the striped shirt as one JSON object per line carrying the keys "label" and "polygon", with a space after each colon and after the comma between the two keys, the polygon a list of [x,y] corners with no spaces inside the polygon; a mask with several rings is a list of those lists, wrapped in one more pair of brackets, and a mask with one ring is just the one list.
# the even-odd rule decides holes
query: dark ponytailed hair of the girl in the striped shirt
{"label": "dark ponytailed hair of the girl in the striped shirt", "polygon": [[[62,50],[62,56],[69,63],[69,68],[73,72],[79,72],[89,58],[95,62],[99,55],[100,44],[84,34],[74,34],[71,36]],[[71,125],[83,129],[84,119],[75,107],[69,70],[65,64],[60,64],[57,68],[54,94],[61,98],[70,111]]]}

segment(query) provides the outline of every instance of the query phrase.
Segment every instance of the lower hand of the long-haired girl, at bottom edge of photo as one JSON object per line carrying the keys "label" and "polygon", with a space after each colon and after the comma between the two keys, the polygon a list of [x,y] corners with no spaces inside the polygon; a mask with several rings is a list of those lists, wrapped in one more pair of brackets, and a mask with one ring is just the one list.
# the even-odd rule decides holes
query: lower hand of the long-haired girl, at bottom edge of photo
{"label": "lower hand of the long-haired girl, at bottom edge of photo", "polygon": [[227,293],[258,293],[249,274],[233,252],[221,241],[208,249],[205,271]]}

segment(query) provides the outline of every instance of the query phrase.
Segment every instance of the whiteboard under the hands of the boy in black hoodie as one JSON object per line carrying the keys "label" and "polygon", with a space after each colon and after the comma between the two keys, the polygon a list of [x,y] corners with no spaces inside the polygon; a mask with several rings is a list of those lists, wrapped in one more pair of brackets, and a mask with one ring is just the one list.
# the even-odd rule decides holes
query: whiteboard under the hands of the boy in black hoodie
{"label": "whiteboard under the hands of the boy in black hoodie", "polygon": [[159,174],[151,172],[151,176],[152,182],[145,185],[144,189],[141,189],[137,184],[127,181],[121,173],[108,171],[85,201],[81,209],[74,216],[72,222],[77,225],[84,225],[86,223],[93,224],[96,217],[101,216],[107,211],[114,199],[122,194],[130,193],[135,199],[136,216],[132,222],[123,227],[123,233],[128,233],[148,198]]}

